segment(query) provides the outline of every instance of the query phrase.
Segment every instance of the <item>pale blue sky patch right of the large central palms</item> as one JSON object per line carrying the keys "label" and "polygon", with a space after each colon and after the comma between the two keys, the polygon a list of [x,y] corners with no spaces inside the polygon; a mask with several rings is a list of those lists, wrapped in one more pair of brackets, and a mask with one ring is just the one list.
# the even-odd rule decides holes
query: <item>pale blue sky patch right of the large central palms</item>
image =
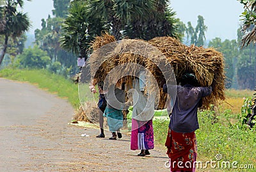
{"label": "pale blue sky patch right of the large central palms", "polygon": [[237,0],[172,0],[170,6],[176,11],[176,17],[184,24],[191,22],[196,27],[197,17],[204,17],[207,26],[206,39],[236,39],[241,24],[243,4]]}

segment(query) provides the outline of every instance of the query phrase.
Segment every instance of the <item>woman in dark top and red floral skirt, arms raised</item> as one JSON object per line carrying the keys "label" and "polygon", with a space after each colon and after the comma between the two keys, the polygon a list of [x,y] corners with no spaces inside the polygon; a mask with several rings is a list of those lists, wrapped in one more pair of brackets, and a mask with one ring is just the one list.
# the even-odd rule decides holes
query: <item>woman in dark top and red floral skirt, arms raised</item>
{"label": "woman in dark top and red floral skirt, arms raised", "polygon": [[167,89],[177,89],[165,143],[168,148],[166,154],[170,157],[171,172],[195,171],[195,131],[199,128],[197,109],[202,104],[202,97],[209,96],[212,92],[212,87],[196,85],[198,81],[192,73],[182,75],[181,85],[163,85],[164,92],[167,92]]}

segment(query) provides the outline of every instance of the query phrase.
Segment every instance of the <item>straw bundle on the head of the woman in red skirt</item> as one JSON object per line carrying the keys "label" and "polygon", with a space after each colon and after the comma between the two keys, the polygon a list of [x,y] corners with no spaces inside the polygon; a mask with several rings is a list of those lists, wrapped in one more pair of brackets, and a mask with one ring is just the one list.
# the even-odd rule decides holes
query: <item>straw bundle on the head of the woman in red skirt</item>
{"label": "straw bundle on the head of the woman in red skirt", "polygon": [[188,71],[195,73],[200,86],[214,87],[211,96],[204,98],[204,107],[218,105],[225,100],[224,58],[220,52],[195,45],[188,47],[171,37],[154,38],[148,43],[161,50],[172,64],[177,83],[182,73]]}

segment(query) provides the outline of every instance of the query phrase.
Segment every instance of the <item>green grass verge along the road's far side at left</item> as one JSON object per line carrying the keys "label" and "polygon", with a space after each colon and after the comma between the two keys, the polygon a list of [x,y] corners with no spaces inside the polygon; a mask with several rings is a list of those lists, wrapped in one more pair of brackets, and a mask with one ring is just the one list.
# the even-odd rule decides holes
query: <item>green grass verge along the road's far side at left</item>
{"label": "green grass verge along the road's far side at left", "polygon": [[41,89],[46,89],[59,97],[68,99],[74,108],[79,107],[78,87],[64,76],[52,74],[45,69],[5,68],[0,71],[0,77],[34,83]]}

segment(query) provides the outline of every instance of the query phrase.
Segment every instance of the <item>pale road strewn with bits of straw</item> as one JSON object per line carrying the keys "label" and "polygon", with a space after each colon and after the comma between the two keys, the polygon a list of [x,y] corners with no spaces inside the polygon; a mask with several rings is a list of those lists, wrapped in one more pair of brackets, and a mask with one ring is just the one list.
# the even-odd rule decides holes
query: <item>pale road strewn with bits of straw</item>
{"label": "pale road strewn with bits of straw", "polygon": [[0,78],[0,171],[170,171],[165,150],[138,157],[129,135],[95,138],[99,129],[68,125],[73,114],[64,99]]}

